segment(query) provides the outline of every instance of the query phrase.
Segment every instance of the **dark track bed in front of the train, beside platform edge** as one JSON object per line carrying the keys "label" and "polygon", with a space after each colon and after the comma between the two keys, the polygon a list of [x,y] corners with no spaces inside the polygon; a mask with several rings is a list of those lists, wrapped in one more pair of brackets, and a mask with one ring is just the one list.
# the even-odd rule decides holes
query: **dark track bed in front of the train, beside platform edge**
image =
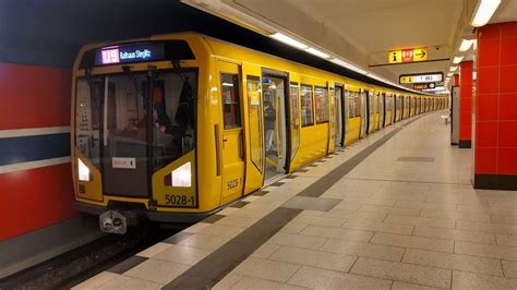
{"label": "dark track bed in front of the train, beside platform edge", "polygon": [[108,234],[0,280],[0,289],[69,289],[180,230],[146,223],[125,235]]}

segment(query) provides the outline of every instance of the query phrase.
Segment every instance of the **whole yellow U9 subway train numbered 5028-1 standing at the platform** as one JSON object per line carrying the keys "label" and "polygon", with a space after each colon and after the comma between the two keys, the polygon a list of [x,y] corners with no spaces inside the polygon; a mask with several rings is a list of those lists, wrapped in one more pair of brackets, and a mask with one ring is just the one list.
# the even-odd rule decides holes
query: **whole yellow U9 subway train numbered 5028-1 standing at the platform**
{"label": "whole yellow U9 subway train numbered 5028-1 standing at the platform", "polygon": [[76,208],[124,233],[194,222],[445,97],[359,82],[195,33],[84,46],[72,84]]}

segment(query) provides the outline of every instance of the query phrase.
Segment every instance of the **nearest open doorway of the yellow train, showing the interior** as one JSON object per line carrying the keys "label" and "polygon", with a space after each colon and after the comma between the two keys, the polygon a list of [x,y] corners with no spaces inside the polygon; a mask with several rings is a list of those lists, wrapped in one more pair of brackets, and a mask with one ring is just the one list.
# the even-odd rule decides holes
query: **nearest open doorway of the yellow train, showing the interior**
{"label": "nearest open doorway of the yellow train, showing the interior", "polygon": [[[262,97],[264,102],[266,179],[289,170],[290,153],[287,148],[289,131],[286,105],[289,104],[287,74],[262,74]],[[299,133],[299,132],[298,132]],[[298,135],[299,136],[299,135]],[[299,138],[298,138],[299,140]],[[288,156],[289,155],[289,156]]]}

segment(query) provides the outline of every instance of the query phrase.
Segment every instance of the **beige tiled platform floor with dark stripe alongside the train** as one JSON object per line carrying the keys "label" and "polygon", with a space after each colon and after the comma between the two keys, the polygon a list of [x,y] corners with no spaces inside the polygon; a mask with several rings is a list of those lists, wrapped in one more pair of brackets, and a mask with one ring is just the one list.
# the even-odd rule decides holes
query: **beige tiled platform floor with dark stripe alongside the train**
{"label": "beige tiled platform floor with dark stripe alongside the train", "polygon": [[517,195],[474,191],[445,111],[285,177],[75,289],[517,288]]}

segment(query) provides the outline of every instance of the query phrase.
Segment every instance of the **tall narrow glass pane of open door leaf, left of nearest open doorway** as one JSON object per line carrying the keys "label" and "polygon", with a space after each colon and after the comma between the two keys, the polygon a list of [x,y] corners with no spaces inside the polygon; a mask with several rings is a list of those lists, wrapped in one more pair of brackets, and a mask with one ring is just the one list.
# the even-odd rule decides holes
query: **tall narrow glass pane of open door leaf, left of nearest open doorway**
{"label": "tall narrow glass pane of open door leaf, left of nearest open doorway", "polygon": [[[262,107],[261,107],[261,78],[258,76],[248,75],[248,110],[250,119],[250,143],[251,143],[251,161],[262,172],[264,165],[262,164]],[[257,129],[257,130],[256,130]]]}

